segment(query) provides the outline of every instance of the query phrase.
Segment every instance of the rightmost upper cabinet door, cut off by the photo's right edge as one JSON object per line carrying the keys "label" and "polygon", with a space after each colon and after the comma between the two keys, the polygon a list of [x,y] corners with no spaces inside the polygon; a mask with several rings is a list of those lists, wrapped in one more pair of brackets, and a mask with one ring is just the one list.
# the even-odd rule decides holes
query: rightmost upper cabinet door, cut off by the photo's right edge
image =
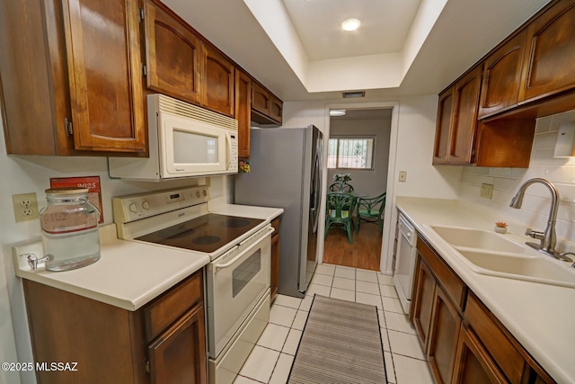
{"label": "rightmost upper cabinet door, cut off by the photo's right edge", "polygon": [[575,0],[556,2],[527,28],[519,102],[575,88]]}

